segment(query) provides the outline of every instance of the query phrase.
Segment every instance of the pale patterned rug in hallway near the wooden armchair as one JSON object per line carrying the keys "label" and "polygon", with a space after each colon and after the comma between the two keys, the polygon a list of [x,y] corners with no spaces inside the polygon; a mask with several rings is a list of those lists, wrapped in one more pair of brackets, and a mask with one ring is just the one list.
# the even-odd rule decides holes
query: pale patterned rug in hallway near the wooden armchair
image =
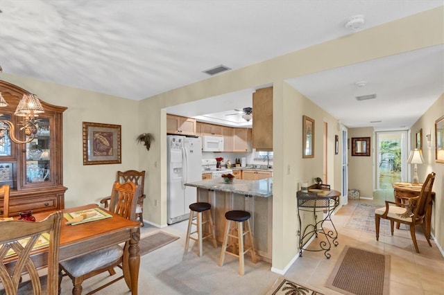
{"label": "pale patterned rug in hallway near the wooden armchair", "polygon": [[[344,227],[348,229],[357,229],[358,231],[365,231],[366,233],[376,233],[375,209],[383,206],[384,205],[359,203]],[[379,223],[379,235],[391,235],[389,220],[381,218]]]}

